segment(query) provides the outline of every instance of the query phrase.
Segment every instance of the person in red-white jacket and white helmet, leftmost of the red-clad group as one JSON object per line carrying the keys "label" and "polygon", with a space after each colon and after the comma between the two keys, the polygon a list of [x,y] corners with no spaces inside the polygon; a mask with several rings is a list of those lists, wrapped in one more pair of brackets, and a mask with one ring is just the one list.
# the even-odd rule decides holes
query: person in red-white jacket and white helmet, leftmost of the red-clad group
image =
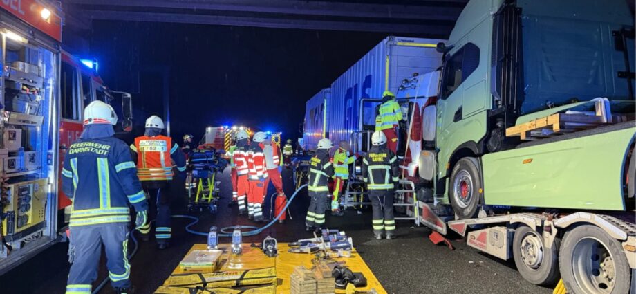
{"label": "person in red-white jacket and white helmet, leftmost of the red-clad group", "polygon": [[233,170],[236,171],[236,201],[238,203],[238,214],[247,212],[247,191],[250,185],[247,181],[249,167],[247,165],[247,153],[250,151],[250,135],[247,131],[240,130],[234,137],[236,148],[232,151]]}

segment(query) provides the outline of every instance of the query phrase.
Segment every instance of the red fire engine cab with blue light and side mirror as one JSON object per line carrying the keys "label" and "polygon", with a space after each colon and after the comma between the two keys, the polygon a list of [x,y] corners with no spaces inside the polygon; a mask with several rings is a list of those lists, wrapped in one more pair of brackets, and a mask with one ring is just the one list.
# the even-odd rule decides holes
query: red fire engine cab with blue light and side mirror
{"label": "red fire engine cab with blue light and side mirror", "polygon": [[[93,60],[79,59],[62,50],[60,68],[59,172],[62,172],[66,149],[82,134],[84,107],[95,100],[110,104],[118,116],[115,132],[127,133],[132,130],[132,101],[129,93],[111,91],[104,86],[97,74],[97,62]],[[59,185],[58,209],[62,210],[71,205],[71,201],[62,192],[61,181]]]}

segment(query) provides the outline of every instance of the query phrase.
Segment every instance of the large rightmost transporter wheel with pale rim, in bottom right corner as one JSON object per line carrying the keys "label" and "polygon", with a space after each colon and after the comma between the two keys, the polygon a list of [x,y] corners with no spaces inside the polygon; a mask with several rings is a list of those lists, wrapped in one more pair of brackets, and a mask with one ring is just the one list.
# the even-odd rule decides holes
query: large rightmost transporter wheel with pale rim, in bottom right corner
{"label": "large rightmost transporter wheel with pale rim, in bottom right corner", "polygon": [[628,293],[630,269],[621,244],[604,230],[581,225],[565,233],[559,254],[569,294]]}

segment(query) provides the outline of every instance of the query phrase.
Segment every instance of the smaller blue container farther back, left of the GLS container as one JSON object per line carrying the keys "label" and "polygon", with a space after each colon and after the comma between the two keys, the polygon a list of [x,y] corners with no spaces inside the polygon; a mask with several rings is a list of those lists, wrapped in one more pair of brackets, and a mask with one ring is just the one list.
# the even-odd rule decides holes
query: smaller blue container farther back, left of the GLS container
{"label": "smaller blue container farther back, left of the GLS container", "polygon": [[327,137],[326,120],[328,115],[326,105],[331,96],[331,89],[320,90],[305,104],[305,127],[303,130],[303,148],[316,150],[316,145],[321,138]]}

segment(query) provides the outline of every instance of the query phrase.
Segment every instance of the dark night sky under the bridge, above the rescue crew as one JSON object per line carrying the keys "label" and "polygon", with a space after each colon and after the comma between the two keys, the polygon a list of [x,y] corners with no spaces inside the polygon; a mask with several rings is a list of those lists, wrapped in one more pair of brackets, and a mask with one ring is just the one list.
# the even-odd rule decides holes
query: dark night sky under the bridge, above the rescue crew
{"label": "dark night sky under the bridge, above the rescue crew", "polygon": [[[298,138],[305,102],[386,33],[95,21],[91,50],[111,89],[130,91],[135,131],[163,113],[168,68],[172,136],[245,125]],[[140,127],[136,127],[140,125]]]}

